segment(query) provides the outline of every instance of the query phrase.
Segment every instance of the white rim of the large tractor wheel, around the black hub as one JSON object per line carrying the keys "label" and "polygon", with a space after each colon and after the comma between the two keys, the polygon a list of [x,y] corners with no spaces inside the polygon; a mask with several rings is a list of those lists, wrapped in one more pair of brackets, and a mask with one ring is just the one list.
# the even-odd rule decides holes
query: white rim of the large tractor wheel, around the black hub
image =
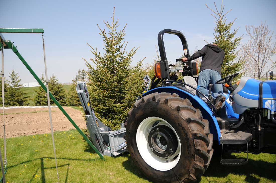
{"label": "white rim of the large tractor wheel, around the black hub", "polygon": [[[149,131],[150,131],[148,129],[151,129],[153,124],[156,121],[160,121],[156,126],[159,126],[159,125],[168,126],[171,130],[173,130],[173,132],[175,133],[176,138],[177,138],[177,150],[172,156],[170,156],[168,158],[161,158],[161,157],[155,155],[148,145],[148,135],[149,135]],[[156,170],[160,170],[160,171],[170,170],[176,166],[176,164],[178,163],[178,161],[180,159],[181,143],[180,143],[179,136],[177,135],[176,131],[171,126],[171,124],[169,124],[167,121],[165,121],[164,119],[162,119],[160,117],[148,117],[140,123],[140,125],[138,126],[138,129],[137,129],[137,132],[136,132],[136,143],[137,143],[139,153],[142,156],[143,160],[149,166],[151,166],[152,168],[154,168]],[[176,156],[177,156],[177,158],[175,160],[173,160],[173,158]]]}

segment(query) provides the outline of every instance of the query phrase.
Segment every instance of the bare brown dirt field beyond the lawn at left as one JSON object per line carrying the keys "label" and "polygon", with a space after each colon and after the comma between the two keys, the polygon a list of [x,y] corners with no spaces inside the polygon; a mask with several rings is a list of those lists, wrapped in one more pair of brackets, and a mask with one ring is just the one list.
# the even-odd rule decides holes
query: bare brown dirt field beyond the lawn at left
{"label": "bare brown dirt field beyond the lawn at left", "polygon": [[[78,127],[81,129],[86,127],[81,111],[70,107],[64,107],[64,109],[75,121]],[[54,131],[75,129],[59,108],[51,108],[51,111]],[[5,129],[7,138],[51,132],[48,108],[5,109],[5,113]],[[0,115],[0,124],[0,137],[3,138],[3,115]]]}

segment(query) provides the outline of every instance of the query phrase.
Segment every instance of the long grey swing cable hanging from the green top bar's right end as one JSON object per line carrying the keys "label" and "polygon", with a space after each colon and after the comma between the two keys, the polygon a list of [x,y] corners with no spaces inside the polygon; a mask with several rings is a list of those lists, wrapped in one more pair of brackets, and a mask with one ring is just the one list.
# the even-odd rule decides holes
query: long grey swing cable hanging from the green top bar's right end
{"label": "long grey swing cable hanging from the green top bar's right end", "polygon": [[[42,42],[43,42],[43,54],[44,54],[44,65],[45,65],[46,88],[47,88],[47,102],[48,102],[48,109],[49,109],[49,118],[50,118],[50,125],[51,125],[52,142],[53,142],[54,155],[55,155],[55,167],[57,169],[57,157],[56,157],[56,154],[55,154],[55,142],[54,142],[54,132],[53,132],[53,124],[52,124],[52,113],[51,113],[51,104],[50,104],[50,96],[49,96],[48,75],[47,75],[45,45],[44,45],[44,35],[43,34],[42,34]],[[59,182],[59,173],[58,173],[58,171],[57,171],[57,179],[58,179],[58,182]]]}

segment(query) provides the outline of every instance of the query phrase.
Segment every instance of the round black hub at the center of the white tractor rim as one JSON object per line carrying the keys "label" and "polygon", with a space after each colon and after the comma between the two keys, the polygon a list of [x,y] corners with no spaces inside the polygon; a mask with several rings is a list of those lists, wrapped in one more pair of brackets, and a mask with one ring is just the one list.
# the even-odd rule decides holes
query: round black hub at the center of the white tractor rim
{"label": "round black hub at the center of the white tractor rim", "polygon": [[177,150],[177,138],[168,126],[158,125],[150,130],[148,145],[155,155],[168,158]]}

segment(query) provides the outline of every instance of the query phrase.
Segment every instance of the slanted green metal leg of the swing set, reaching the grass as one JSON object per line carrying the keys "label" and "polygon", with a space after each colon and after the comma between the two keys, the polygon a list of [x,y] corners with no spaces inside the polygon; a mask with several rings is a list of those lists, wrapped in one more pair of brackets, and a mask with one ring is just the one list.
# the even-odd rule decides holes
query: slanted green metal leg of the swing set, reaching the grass
{"label": "slanted green metal leg of the swing set, reaching the grass", "polygon": [[[21,54],[18,52],[16,46],[11,41],[5,41],[6,47],[4,48],[10,48],[12,51],[17,55],[17,57],[22,61],[22,63],[26,66],[26,68],[30,71],[30,73],[35,77],[37,82],[40,84],[40,86],[47,92],[46,86],[43,84],[43,82],[39,79],[39,77],[35,74],[33,69],[29,66],[29,64],[25,61],[25,59],[21,56]],[[97,150],[97,148],[92,144],[92,142],[86,137],[86,135],[81,131],[81,129],[76,125],[76,123],[71,119],[71,117],[66,113],[66,111],[62,108],[62,106],[59,104],[59,102],[55,99],[55,97],[52,95],[51,92],[49,92],[50,98],[54,101],[54,103],[59,107],[61,112],[67,117],[67,119],[72,123],[72,125],[78,130],[78,132],[83,136],[83,138],[86,140],[86,142],[93,148],[93,150],[102,158],[105,160],[105,158],[102,156],[102,154]]]}

